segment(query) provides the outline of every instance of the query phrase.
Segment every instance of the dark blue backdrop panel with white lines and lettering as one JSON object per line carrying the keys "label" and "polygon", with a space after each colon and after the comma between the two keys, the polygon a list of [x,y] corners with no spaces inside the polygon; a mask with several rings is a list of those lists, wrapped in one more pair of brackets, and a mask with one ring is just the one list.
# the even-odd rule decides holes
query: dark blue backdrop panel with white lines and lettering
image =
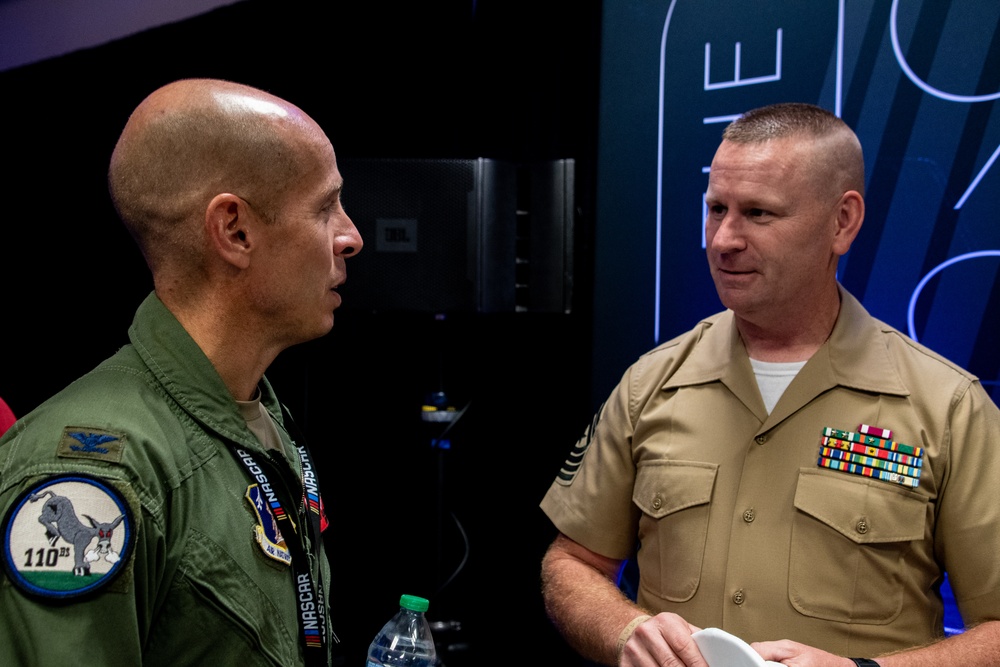
{"label": "dark blue backdrop panel with white lines and lettering", "polygon": [[840,279],[1000,398],[1000,5],[605,2],[594,400],[720,309],[702,238],[726,122],[819,104],[861,138],[867,215]]}

